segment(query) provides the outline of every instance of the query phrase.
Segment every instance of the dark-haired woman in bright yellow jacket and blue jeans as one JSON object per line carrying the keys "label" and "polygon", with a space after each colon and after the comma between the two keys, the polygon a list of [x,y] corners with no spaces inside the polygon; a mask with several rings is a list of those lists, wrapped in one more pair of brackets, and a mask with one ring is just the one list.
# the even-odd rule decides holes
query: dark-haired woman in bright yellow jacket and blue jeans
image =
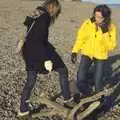
{"label": "dark-haired woman in bright yellow jacket and blue jeans", "polygon": [[85,20],[77,33],[77,39],[72,49],[71,61],[77,60],[77,53],[81,52],[80,66],[77,72],[78,90],[86,94],[86,77],[92,63],[95,65],[95,90],[102,90],[104,64],[109,53],[116,46],[116,27],[111,21],[111,9],[107,5],[98,5],[93,16]]}

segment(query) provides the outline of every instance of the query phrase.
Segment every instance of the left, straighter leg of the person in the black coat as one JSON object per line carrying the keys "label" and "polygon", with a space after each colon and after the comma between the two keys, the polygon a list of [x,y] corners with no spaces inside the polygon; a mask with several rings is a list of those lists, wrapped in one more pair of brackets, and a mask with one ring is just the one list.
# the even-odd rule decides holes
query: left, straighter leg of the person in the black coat
{"label": "left, straighter leg of the person in the black coat", "polygon": [[21,104],[20,112],[28,111],[27,100],[30,99],[32,89],[36,82],[37,73],[35,71],[27,71],[27,82],[25,83],[22,95],[21,95]]}

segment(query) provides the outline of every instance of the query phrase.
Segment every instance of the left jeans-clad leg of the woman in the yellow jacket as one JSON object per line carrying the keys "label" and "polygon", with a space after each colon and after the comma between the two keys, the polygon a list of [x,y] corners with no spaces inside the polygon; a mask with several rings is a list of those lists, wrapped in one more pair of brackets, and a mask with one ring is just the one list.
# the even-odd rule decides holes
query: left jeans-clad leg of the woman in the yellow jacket
{"label": "left jeans-clad leg of the woman in the yellow jacket", "polygon": [[82,55],[79,69],[77,72],[77,88],[79,92],[83,94],[88,93],[88,89],[86,89],[87,87],[86,78],[91,63],[92,60],[89,57]]}

